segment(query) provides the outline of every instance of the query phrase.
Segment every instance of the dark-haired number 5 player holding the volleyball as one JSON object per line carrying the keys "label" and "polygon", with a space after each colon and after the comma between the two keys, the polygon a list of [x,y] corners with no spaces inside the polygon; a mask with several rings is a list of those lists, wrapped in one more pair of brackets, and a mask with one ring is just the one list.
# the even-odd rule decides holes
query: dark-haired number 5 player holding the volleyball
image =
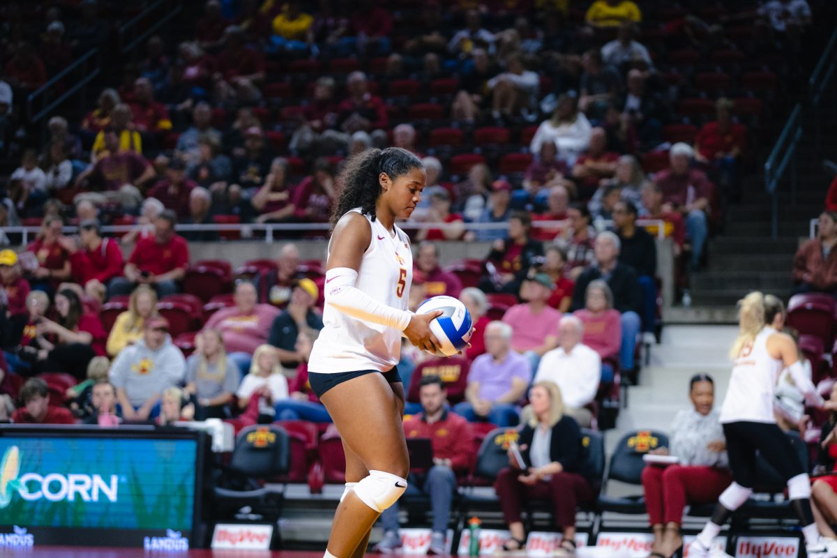
{"label": "dark-haired number 5 player holding the volleyball", "polygon": [[378,515],[407,489],[404,390],[395,368],[402,335],[435,351],[429,322],[442,312],[408,311],[413,256],[395,225],[421,199],[419,158],[397,147],[363,151],[347,162],[341,182],[331,218],[325,327],[311,351],[308,379],[346,450],[346,490],[325,558],[358,558]]}

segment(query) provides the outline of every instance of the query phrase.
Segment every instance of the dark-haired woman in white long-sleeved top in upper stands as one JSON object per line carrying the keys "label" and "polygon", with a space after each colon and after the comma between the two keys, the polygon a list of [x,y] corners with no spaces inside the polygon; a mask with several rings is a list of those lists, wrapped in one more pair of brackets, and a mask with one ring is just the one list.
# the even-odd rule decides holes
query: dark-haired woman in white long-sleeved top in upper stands
{"label": "dark-haired woman in white long-sleeved top in upper stands", "polygon": [[552,118],[538,126],[535,136],[531,138],[529,151],[540,153],[545,141],[553,141],[558,146],[558,157],[572,165],[590,145],[592,131],[590,120],[578,111],[578,100],[565,93],[558,97]]}

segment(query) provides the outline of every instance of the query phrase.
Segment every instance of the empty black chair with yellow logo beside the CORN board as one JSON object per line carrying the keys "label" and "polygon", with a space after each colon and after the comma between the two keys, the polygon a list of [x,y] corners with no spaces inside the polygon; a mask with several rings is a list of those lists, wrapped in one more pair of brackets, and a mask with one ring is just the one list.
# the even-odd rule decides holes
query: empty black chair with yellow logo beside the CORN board
{"label": "empty black chair with yellow logo beside the CORN board", "polygon": [[275,523],[281,514],[283,489],[265,486],[265,481],[287,474],[290,468],[290,437],[275,424],[244,428],[235,440],[229,465],[220,466],[214,490],[214,517],[233,519],[249,506],[250,514]]}

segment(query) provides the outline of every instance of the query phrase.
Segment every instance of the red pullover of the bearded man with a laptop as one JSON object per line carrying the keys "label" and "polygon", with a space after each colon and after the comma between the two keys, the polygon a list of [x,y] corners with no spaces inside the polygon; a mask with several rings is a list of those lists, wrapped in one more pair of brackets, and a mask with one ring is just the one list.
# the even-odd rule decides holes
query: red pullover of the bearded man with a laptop
{"label": "red pullover of the bearded man with a laptop", "polygon": [[465,418],[445,411],[433,423],[427,422],[424,412],[404,421],[404,435],[407,438],[430,438],[433,457],[450,459],[454,471],[465,471],[470,467],[474,451],[474,433]]}

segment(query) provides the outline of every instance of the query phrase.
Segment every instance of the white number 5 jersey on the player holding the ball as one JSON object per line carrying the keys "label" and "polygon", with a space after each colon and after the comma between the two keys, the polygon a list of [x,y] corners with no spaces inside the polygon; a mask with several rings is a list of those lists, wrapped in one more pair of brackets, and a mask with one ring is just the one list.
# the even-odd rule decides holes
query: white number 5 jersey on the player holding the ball
{"label": "white number 5 jersey on the player holding the ball", "polygon": [[[353,212],[361,213],[359,208]],[[413,282],[410,240],[400,228],[393,234],[380,221],[363,215],[372,228],[372,240],[363,253],[355,287],[384,305],[408,310]],[[329,243],[331,251],[331,243]],[[327,288],[327,285],[326,285]],[[360,370],[388,371],[401,357],[402,332],[343,314],[326,301],[323,329],[314,342],[308,370],[324,374]]]}

